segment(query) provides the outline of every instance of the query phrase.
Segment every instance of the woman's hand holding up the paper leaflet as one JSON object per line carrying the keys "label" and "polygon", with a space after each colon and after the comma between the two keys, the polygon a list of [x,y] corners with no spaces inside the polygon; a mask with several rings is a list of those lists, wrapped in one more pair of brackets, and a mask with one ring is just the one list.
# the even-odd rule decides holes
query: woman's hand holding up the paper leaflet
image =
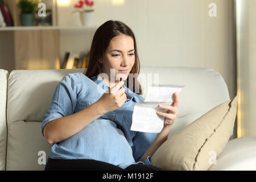
{"label": "woman's hand holding up the paper leaflet", "polygon": [[178,111],[177,111],[177,107],[179,105],[179,99],[177,97],[177,93],[174,93],[174,102],[172,103],[172,105],[161,105],[159,106],[162,109],[167,109],[166,113],[160,112],[160,111],[156,111],[156,114],[158,115],[162,115],[164,118],[164,128],[171,128],[172,124],[174,123]]}

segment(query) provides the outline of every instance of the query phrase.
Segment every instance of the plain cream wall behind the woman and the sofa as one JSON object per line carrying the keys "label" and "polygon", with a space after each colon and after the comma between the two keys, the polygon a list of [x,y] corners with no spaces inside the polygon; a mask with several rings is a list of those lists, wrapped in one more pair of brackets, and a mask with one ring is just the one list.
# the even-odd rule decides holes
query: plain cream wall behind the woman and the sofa
{"label": "plain cream wall behind the woman and the sofa", "polygon": [[[95,2],[93,26],[109,19],[126,23],[137,38],[142,65],[212,68],[224,77],[230,98],[236,96],[233,0],[129,0],[119,6],[109,0]],[[217,17],[208,15],[212,2]],[[79,16],[74,17],[68,23],[75,26]],[[92,38],[81,31],[69,33],[60,32],[61,57],[68,48],[89,49]]]}

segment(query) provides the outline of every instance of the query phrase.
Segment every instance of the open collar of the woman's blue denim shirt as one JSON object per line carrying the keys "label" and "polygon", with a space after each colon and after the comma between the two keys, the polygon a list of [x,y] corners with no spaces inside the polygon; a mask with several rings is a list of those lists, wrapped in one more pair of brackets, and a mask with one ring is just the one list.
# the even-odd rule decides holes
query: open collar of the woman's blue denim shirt
{"label": "open collar of the woman's blue denim shirt", "polygon": [[[102,79],[100,75],[93,76],[92,79],[94,80],[97,77],[97,80],[94,81],[97,85],[100,85],[102,89],[108,90],[110,87],[106,85],[105,81]],[[135,102],[139,102],[138,98],[135,96],[135,93],[131,91],[125,84],[123,84],[123,88],[125,88],[125,93],[127,94],[127,98],[130,100],[134,100]]]}

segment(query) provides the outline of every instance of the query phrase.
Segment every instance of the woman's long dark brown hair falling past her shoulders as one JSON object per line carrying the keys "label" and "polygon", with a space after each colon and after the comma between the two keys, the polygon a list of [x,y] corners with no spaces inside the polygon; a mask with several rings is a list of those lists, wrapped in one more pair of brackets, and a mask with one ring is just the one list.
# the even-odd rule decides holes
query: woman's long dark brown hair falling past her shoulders
{"label": "woman's long dark brown hair falling past her shoulders", "polygon": [[[137,44],[133,31],[131,31],[131,28],[129,28],[125,23],[114,20],[108,20],[100,27],[98,27],[93,36],[92,46],[90,47],[88,55],[88,68],[84,73],[85,76],[93,80],[92,77],[102,73],[102,68],[104,65],[102,63],[100,64],[98,60],[103,59],[104,53],[109,46],[110,40],[112,40],[115,36],[122,34],[133,38],[135,62],[130,73],[133,73],[132,75],[138,73],[135,75],[139,75],[140,63],[137,51]],[[141,84],[139,84],[137,76],[133,77],[133,85],[129,84],[129,79],[127,77],[126,85],[128,88],[132,87],[131,91],[135,92],[136,89],[137,92],[139,91],[139,93],[137,94],[142,94]]]}

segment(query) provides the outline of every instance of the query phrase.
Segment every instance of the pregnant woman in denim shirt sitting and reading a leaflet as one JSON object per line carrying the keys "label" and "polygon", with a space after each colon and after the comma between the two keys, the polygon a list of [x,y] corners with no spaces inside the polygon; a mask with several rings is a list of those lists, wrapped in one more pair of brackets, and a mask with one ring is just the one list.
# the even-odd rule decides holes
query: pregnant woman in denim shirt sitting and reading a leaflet
{"label": "pregnant woman in denim shirt sitting and reading a leaflet", "polygon": [[160,170],[150,157],[167,140],[179,101],[174,94],[174,103],[162,106],[160,133],[131,131],[134,106],[144,98],[137,78],[128,78],[139,69],[133,31],[119,21],[102,24],[86,72],[59,82],[43,117],[42,134],[52,144],[45,170]]}

